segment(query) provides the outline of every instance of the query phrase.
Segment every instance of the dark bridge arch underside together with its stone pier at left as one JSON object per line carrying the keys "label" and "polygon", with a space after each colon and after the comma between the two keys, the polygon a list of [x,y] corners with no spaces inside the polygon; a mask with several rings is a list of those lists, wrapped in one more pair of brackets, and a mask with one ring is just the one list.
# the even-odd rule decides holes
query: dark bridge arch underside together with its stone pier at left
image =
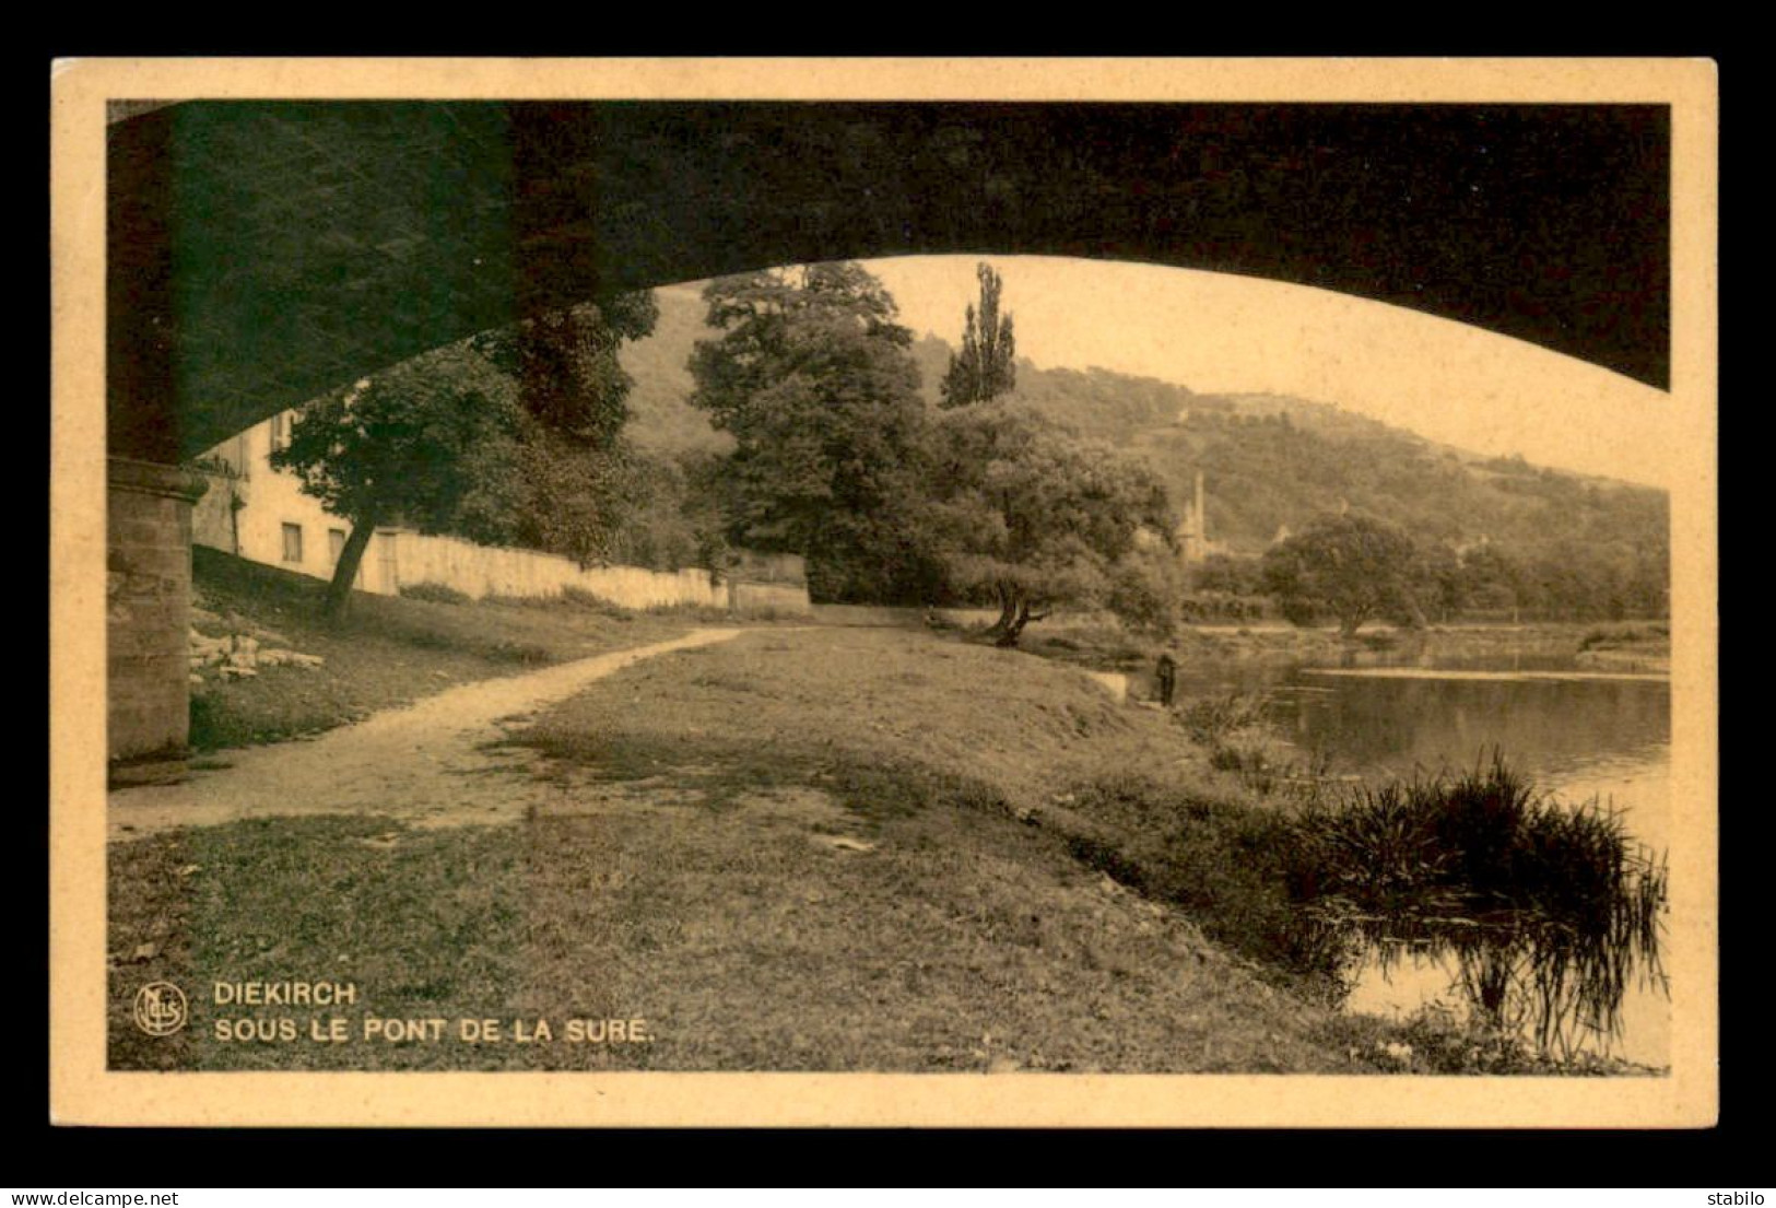
{"label": "dark bridge arch underside together with its stone pier at left", "polygon": [[[1669,378],[1655,105],[192,101],[123,108],[107,155],[114,755],[185,741],[169,467],[604,291],[1089,256],[1337,290]],[[156,684],[140,716],[176,721],[121,730],[135,680]]]}

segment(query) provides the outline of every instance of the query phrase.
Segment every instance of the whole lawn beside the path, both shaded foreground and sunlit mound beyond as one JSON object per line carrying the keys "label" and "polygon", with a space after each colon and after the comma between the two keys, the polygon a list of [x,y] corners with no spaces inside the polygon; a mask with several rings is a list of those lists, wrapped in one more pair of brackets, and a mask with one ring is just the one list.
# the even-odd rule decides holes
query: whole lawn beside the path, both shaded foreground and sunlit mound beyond
{"label": "whole lawn beside the path, both shaded foreground and sunlit mound beyond", "polygon": [[[924,634],[758,631],[600,680],[527,741],[554,760],[522,824],[265,821],[114,846],[112,1064],[1376,1068],[1183,911],[1078,860],[1069,831],[1019,821],[1062,783],[1193,750],[1078,672]],[[222,1043],[202,993],[179,1037],[128,1023],[147,981],[289,977],[350,977],[353,1020],[545,1018],[558,1039]],[[611,1016],[654,1043],[561,1039]]]}

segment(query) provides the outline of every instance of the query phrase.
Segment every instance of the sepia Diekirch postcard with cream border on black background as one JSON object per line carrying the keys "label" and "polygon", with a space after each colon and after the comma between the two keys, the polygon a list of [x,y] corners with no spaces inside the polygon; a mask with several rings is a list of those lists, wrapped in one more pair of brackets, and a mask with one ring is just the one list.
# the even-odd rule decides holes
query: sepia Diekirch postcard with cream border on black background
{"label": "sepia Diekirch postcard with cream border on black background", "polygon": [[1714,1123],[1710,64],[57,68],[59,1119]]}

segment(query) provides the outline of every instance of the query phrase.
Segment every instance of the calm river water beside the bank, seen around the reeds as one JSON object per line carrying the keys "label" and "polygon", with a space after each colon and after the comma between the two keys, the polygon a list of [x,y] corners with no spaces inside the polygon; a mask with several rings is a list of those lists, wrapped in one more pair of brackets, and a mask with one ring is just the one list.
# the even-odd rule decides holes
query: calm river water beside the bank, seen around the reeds
{"label": "calm river water beside the bank, seen around the reeds", "polygon": [[[1671,693],[1662,677],[1597,675],[1577,668],[1570,652],[1545,647],[1474,656],[1430,645],[1357,652],[1325,668],[1195,668],[1179,687],[1265,691],[1273,725],[1302,751],[1325,753],[1336,775],[1474,767],[1497,748],[1559,799],[1597,798],[1625,812],[1636,840],[1653,851],[1669,847]],[[1369,959],[1346,1007],[1407,1014],[1444,1002],[1462,1009],[1453,979],[1453,963],[1435,956],[1407,954],[1385,970]],[[1618,1036],[1586,1037],[1584,1048],[1666,1066],[1669,1032],[1662,986],[1637,977]]]}

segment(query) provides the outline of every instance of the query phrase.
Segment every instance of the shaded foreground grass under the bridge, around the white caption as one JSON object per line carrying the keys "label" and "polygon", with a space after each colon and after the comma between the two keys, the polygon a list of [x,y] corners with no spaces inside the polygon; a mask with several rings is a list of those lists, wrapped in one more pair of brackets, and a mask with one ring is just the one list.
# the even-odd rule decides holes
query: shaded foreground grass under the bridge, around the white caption
{"label": "shaded foreground grass under the bridge, around the white caption", "polygon": [[[1323,1020],[1044,833],[861,773],[824,803],[760,791],[627,817],[414,831],[378,819],[236,823],[117,846],[119,1069],[1362,1071]],[[863,810],[852,810],[863,805]],[[824,837],[872,851],[844,851]],[[131,961],[142,943],[153,956]],[[343,979],[346,1011],[218,1007],[217,981]],[[172,981],[192,1023],[128,1018]],[[316,1045],[311,1016],[353,1041]],[[368,1016],[446,1021],[369,1043]],[[291,1043],[218,1020],[291,1018]],[[458,1020],[551,1045],[465,1045]],[[648,1045],[570,1045],[568,1020],[645,1018]]]}

